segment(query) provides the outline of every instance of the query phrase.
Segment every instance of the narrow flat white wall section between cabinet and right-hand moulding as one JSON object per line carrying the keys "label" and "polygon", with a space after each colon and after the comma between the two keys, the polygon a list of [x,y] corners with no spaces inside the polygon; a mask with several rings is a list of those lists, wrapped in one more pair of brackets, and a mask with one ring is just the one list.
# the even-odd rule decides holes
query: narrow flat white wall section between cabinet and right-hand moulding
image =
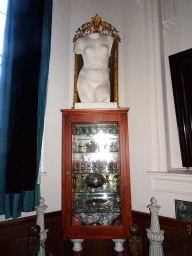
{"label": "narrow flat white wall section between cabinet and right-hand moulding", "polygon": [[132,208],[146,211],[150,200],[149,179],[146,174],[150,170],[150,157],[144,9],[133,0],[125,1],[122,11],[124,97],[125,106],[130,107],[128,119]]}

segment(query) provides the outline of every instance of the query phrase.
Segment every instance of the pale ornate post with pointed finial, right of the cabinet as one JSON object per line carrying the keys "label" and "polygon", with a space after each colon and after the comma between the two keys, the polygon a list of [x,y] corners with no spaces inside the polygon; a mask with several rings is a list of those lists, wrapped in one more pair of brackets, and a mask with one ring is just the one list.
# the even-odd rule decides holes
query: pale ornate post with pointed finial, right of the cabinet
{"label": "pale ornate post with pointed finial, right of the cabinet", "polygon": [[151,212],[151,224],[150,228],[147,230],[147,237],[150,241],[149,245],[149,256],[163,256],[163,240],[164,240],[164,231],[160,230],[159,225],[159,208],[160,206],[156,204],[157,200],[152,197],[151,204],[147,207]]}

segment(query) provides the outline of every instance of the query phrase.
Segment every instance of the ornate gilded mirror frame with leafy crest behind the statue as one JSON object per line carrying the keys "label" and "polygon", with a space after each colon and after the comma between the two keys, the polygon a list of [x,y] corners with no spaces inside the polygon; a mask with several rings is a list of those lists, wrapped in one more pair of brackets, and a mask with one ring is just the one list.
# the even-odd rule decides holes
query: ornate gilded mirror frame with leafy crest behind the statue
{"label": "ornate gilded mirror frame with leafy crest behind the statue", "polygon": [[[111,86],[111,99],[110,102],[116,102],[119,106],[119,94],[118,94],[118,44],[121,39],[118,35],[118,31],[108,22],[102,21],[101,17],[96,14],[92,18],[91,22],[83,24],[74,36],[73,42],[75,42],[79,37],[82,37],[91,33],[100,33],[104,35],[111,35],[114,39],[111,57],[109,58],[109,68],[110,68],[110,86]],[[75,103],[80,102],[78,91],[77,91],[77,79],[81,67],[83,66],[82,56],[75,54],[75,71],[74,71],[74,95],[73,95],[73,106]]]}

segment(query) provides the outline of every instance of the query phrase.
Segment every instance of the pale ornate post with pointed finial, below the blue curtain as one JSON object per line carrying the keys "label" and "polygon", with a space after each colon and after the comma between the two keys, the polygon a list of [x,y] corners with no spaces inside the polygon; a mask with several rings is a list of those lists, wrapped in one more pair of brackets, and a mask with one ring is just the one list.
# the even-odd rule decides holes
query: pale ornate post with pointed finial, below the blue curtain
{"label": "pale ornate post with pointed finial, below the blue curtain", "polygon": [[[45,256],[45,240],[47,238],[47,232],[49,231],[48,229],[45,229],[45,225],[44,225],[44,212],[46,210],[46,208],[48,207],[47,205],[44,204],[45,199],[43,197],[40,198],[39,200],[40,204],[38,206],[36,206],[36,212],[37,212],[37,221],[36,224],[39,225],[40,227],[40,242],[41,245],[40,246],[40,250],[38,253],[38,256]],[[43,248],[44,247],[44,248]]]}

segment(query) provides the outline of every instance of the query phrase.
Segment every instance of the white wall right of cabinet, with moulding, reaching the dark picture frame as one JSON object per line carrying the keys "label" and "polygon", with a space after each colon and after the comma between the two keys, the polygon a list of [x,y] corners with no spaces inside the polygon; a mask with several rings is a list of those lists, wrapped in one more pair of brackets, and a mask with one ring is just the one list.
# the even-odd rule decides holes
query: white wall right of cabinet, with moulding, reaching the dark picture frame
{"label": "white wall right of cabinet, with moulding, reaching the dark picture frame", "polygon": [[[132,209],[148,212],[146,207],[154,196],[161,206],[160,215],[174,218],[175,199],[192,201],[190,193],[177,190],[185,186],[185,178],[175,182],[170,176],[159,175],[161,179],[156,176],[159,180],[150,183],[146,174],[182,167],[168,56],[192,48],[192,2],[178,0],[174,6],[174,1],[163,0],[162,4],[171,2],[175,8],[168,11],[176,21],[167,30],[157,21],[160,1],[146,0],[143,8],[136,1],[124,2],[123,51],[125,98],[130,107]],[[153,182],[159,189],[153,190]],[[191,184],[191,179],[187,182]],[[167,188],[162,189],[163,183]]]}

